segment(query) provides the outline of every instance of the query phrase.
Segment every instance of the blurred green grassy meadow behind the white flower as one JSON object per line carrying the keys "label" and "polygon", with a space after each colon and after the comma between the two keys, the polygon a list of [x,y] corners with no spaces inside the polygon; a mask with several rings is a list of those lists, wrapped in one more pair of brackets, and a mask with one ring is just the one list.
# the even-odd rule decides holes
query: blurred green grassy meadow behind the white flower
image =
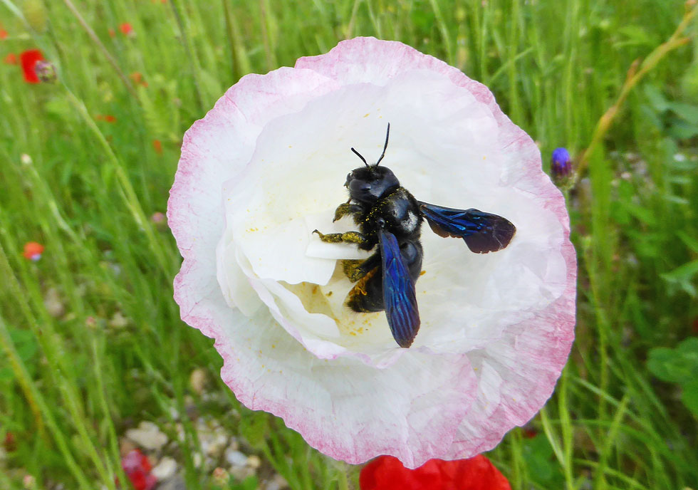
{"label": "blurred green grassy meadow behind the white flower", "polygon": [[[179,475],[159,489],[355,487],[358,468],[241,407],[179,320],[159,213],[184,131],[246,73],[376,36],[488,85],[548,169],[694,4],[0,0],[0,488],[115,489],[141,422]],[[488,454],[514,489],[698,488],[695,20],[682,29],[567,191],[577,338],[543,412]],[[14,62],[35,48],[58,83],[25,82]]]}

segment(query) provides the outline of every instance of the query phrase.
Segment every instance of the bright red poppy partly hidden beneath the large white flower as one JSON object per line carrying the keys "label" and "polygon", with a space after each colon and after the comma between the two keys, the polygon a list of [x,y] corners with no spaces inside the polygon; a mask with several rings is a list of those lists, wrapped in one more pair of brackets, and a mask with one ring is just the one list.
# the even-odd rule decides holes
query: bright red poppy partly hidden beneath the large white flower
{"label": "bright red poppy partly hidden beneath the large white flower", "polygon": [[407,469],[392,456],[379,456],[361,470],[361,490],[511,490],[509,481],[478,454],[470,459],[429,459]]}

